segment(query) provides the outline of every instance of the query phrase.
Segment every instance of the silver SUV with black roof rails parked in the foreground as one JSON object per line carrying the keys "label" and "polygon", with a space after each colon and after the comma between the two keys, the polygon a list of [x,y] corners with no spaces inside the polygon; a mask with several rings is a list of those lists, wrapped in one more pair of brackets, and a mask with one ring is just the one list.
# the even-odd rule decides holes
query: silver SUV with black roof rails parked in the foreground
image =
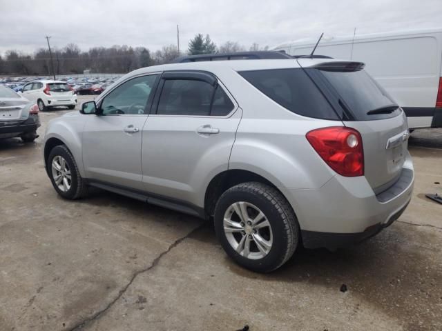
{"label": "silver SUV with black roof rails parked in the foreground", "polygon": [[95,186],[213,219],[227,254],[258,272],[299,245],[377,234],[412,195],[403,110],[363,63],[263,54],[135,70],[53,119],[55,190],[78,199]]}

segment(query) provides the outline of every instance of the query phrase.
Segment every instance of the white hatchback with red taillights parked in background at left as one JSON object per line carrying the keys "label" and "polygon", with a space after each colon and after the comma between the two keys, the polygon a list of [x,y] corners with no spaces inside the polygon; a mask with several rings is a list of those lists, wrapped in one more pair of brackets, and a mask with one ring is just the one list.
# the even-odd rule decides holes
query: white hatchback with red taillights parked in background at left
{"label": "white hatchback with red taillights parked in background at left", "polygon": [[74,109],[77,105],[77,94],[64,81],[31,81],[23,86],[22,94],[29,101],[37,103],[41,112],[58,106]]}

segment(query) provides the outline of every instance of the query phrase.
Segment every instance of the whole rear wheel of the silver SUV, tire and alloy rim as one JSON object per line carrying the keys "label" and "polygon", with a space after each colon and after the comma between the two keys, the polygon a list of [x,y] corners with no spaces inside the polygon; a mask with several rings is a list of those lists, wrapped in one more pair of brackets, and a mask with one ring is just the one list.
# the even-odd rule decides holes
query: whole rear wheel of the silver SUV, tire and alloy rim
{"label": "whole rear wheel of the silver SUV, tire and alloy rim", "polygon": [[[264,218],[255,225],[241,223],[244,217],[240,217],[236,210],[242,213],[242,207],[247,210],[247,219],[253,220],[259,212],[264,214]],[[215,233],[222,248],[233,261],[254,272],[278,269],[290,259],[298,246],[300,231],[294,211],[276,188],[263,183],[241,183],[229,188],[216,204],[214,220]],[[229,230],[226,232],[224,228]],[[240,248],[243,239],[244,243],[249,242],[249,251]],[[260,245],[260,249],[258,242],[265,245]],[[233,247],[236,244],[239,252]]]}

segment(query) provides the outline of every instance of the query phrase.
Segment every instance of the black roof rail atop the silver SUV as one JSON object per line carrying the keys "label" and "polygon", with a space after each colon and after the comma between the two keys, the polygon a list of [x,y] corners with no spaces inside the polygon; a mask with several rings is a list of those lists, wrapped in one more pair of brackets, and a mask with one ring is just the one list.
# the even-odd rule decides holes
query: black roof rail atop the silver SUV
{"label": "black roof rail atop the silver SUV", "polygon": [[222,60],[268,60],[268,59],[293,59],[289,54],[275,50],[260,50],[257,52],[231,52],[217,54],[186,55],[177,57],[171,63],[222,61]]}

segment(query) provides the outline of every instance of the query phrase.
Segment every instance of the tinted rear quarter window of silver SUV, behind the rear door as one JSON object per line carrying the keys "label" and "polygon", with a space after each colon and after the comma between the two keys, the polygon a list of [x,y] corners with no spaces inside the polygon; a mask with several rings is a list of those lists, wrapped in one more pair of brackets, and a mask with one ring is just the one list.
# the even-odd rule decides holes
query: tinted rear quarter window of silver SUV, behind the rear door
{"label": "tinted rear quarter window of silver SUV, behind the rear door", "polygon": [[300,68],[243,71],[239,74],[291,112],[317,119],[338,119],[332,106]]}

